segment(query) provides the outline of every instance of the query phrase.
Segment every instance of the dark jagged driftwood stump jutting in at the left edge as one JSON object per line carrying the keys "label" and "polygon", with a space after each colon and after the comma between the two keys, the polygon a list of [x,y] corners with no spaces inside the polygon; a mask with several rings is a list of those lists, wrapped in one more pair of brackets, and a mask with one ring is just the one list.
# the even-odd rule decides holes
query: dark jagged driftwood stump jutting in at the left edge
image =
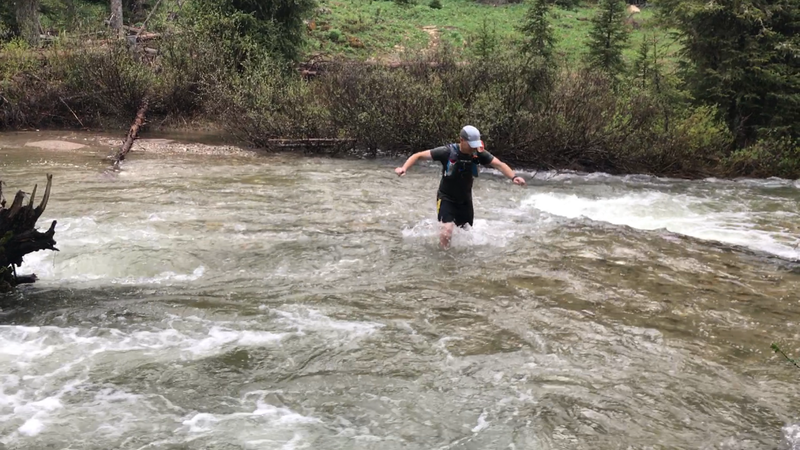
{"label": "dark jagged driftwood stump jutting in at the left edge", "polygon": [[36,275],[17,276],[16,267],[22,265],[22,258],[39,250],[55,250],[56,241],[53,236],[56,232],[56,221],[50,228],[41,233],[36,230],[36,221],[39,220],[50,200],[50,188],[53,185],[53,175],[47,175],[47,187],[39,206],[34,206],[36,188],[33,187],[27,205],[25,193],[17,192],[11,206],[6,208],[3,198],[2,183],[0,183],[0,292],[8,291],[22,283],[33,283]]}

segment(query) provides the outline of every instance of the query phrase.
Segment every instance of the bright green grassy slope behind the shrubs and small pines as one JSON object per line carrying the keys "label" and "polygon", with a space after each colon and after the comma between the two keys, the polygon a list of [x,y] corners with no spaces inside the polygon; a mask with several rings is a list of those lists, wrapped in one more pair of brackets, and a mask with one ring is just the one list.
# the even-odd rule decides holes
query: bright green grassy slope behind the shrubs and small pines
{"label": "bright green grassy slope behind the shrubs and small pines", "polygon": [[[433,9],[428,3],[420,0],[417,4],[400,6],[386,0],[320,0],[314,17],[315,29],[308,32],[306,54],[361,60],[396,59],[402,53],[428,47],[431,36],[423,27],[435,27],[439,39],[454,49],[468,50],[481,33],[484,21],[496,35],[498,45],[507,48],[521,39],[517,27],[528,9],[528,3],[493,6],[474,0],[442,0],[442,9]],[[585,53],[594,11],[591,6],[552,9],[559,56],[575,62]],[[641,27],[631,33],[625,53],[629,61],[636,57],[647,33],[656,33],[674,55],[678,47],[665,30],[656,26],[652,9],[637,14],[635,20]],[[331,39],[332,30],[339,31],[338,40]]]}

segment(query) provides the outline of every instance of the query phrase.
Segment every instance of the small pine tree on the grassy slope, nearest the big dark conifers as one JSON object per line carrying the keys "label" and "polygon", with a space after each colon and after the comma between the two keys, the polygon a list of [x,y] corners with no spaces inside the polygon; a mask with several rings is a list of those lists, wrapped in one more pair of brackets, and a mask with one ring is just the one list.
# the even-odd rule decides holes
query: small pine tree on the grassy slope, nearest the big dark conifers
{"label": "small pine tree on the grassy slope, nearest the big dark conifers", "polygon": [[625,1],[601,0],[598,9],[589,31],[587,63],[589,67],[619,75],[625,71],[622,51],[630,37],[624,22]]}

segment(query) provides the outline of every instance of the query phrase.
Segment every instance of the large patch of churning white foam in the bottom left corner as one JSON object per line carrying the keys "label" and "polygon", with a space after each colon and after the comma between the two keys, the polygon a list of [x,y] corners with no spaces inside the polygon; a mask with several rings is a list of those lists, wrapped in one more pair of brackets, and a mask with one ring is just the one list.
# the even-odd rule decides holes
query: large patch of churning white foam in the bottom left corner
{"label": "large patch of churning white foam in the bottom left corner", "polygon": [[336,320],[302,306],[260,310],[272,316],[269,323],[277,330],[252,329],[263,326],[258,320],[177,316],[165,319],[162,329],[0,326],[0,436],[4,436],[0,443],[24,446],[33,442],[29,439],[53,439],[80,417],[83,426],[94,429],[93,438],[101,441],[156,431],[165,421],[174,421],[181,439],[210,433],[214,439],[227,436],[248,448],[248,442],[265,440],[275,442],[275,448],[304,448],[304,435],[297,430],[319,420],[270,404],[264,391],[248,393],[242,399],[242,412],[187,413],[163,398],[90,381],[101,367],[117,364],[117,353],[124,352],[124,360],[135,367],[145,361],[193,360],[234,348],[280,345],[287,336],[318,336],[341,345],[385,326]]}

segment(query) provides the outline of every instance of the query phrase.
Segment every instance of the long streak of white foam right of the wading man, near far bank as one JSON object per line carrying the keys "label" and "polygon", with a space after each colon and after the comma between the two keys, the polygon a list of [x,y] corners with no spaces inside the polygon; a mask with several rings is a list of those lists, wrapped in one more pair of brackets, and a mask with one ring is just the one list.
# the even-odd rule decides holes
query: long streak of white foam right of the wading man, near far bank
{"label": "long streak of white foam right of the wading man, near far bank", "polygon": [[[537,193],[522,201],[556,216],[625,225],[641,230],[666,229],[699,239],[741,245],[784,258],[800,259],[797,237],[789,230],[764,230],[747,208],[715,211],[712,200],[661,192],[589,198],[574,194]],[[794,213],[786,213],[797,215]]]}

